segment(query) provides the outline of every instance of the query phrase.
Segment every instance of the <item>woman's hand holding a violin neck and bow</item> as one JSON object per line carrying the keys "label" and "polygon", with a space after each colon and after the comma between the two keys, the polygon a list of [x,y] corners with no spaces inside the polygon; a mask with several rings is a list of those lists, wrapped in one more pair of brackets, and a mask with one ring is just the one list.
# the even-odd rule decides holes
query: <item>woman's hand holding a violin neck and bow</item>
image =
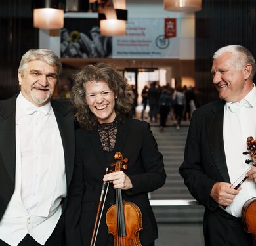
{"label": "woman's hand holding a violin neck and bow", "polygon": [[103,181],[112,183],[114,189],[129,190],[133,188],[130,178],[123,171],[108,173],[104,175]]}

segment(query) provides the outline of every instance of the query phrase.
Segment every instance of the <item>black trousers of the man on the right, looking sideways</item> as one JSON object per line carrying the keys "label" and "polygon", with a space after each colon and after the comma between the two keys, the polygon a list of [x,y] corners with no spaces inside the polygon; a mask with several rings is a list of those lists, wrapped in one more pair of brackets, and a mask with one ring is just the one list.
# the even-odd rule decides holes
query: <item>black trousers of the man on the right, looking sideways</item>
{"label": "black trousers of the man on the right, looking sideways", "polygon": [[223,209],[209,212],[206,246],[252,246],[251,234],[245,232],[244,222]]}

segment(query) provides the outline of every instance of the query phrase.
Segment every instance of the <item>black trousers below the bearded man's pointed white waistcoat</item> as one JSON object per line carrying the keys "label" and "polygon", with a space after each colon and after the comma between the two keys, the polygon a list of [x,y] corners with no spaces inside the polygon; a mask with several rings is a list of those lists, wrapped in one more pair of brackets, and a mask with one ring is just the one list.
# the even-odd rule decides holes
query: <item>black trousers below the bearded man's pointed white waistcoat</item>
{"label": "black trousers below the bearded man's pointed white waistcoat", "polygon": [[[56,224],[55,229],[53,230],[53,233],[47,239],[45,246],[63,246],[64,243],[64,225],[65,220],[64,216],[60,216],[60,220],[58,220],[58,223]],[[9,244],[5,243],[0,239],[0,246],[9,246]],[[35,239],[33,239],[30,234],[27,234],[24,239],[18,244],[18,246],[41,246],[40,243],[37,243]]]}

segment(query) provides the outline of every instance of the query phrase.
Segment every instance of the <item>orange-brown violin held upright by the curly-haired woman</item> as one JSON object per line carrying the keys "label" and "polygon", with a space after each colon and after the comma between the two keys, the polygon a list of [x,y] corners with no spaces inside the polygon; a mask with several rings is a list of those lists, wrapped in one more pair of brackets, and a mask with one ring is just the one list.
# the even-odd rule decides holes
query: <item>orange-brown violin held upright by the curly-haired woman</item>
{"label": "orange-brown violin held upright by the curly-haired woman", "polygon": [[[115,171],[127,169],[128,159],[123,159],[120,152],[114,155]],[[139,231],[142,230],[142,213],[139,207],[132,202],[123,201],[121,188],[116,189],[116,204],[112,205],[106,213],[108,233],[114,237],[114,246],[142,246]]]}

